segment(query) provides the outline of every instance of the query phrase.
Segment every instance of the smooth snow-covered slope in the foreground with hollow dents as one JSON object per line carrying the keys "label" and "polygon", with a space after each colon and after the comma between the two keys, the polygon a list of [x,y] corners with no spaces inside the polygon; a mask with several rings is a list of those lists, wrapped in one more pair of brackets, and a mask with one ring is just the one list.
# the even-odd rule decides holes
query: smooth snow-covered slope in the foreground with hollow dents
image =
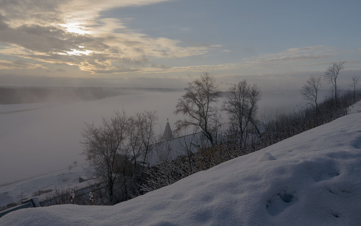
{"label": "smooth snow-covered slope in the foreground with hollow dents", "polygon": [[0,225],[360,225],[360,122],[344,116],[114,206],[21,209]]}

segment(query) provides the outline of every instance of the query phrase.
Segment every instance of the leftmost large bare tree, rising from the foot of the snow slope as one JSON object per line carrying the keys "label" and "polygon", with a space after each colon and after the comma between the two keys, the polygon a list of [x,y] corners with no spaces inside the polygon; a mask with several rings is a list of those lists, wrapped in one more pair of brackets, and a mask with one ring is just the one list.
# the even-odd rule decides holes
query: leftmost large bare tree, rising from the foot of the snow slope
{"label": "leftmost large bare tree, rising from the foot of the snow slope", "polygon": [[125,119],[124,114],[118,113],[110,120],[103,118],[100,127],[96,127],[94,122],[85,123],[86,128],[82,131],[84,140],[80,142],[84,147],[82,154],[91,162],[88,170],[107,183],[110,203],[113,202],[113,185],[117,178],[114,163],[126,138]]}

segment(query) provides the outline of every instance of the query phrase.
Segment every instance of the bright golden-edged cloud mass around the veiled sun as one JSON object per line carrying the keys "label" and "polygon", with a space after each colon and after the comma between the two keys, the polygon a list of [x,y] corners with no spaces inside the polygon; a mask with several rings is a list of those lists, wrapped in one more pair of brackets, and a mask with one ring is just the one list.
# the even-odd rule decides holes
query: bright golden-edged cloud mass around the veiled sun
{"label": "bright golden-edged cloud mass around the veiled sun", "polygon": [[[93,74],[113,74],[159,68],[154,67],[154,59],[202,55],[220,47],[181,47],[179,40],[150,37],[127,29],[119,19],[100,18],[100,12],[106,9],[158,2],[4,1],[0,42],[10,47],[0,53],[77,65]],[[1,62],[0,69],[8,68],[8,64],[14,63]]]}

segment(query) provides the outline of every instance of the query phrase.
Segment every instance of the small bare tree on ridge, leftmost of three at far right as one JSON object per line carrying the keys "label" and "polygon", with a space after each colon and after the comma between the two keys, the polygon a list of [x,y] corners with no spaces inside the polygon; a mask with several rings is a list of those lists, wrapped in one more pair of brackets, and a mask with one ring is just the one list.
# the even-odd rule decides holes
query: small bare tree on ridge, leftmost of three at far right
{"label": "small bare tree on ridge, leftmost of three at far right", "polygon": [[302,87],[301,95],[303,99],[306,101],[310,101],[314,103],[316,111],[318,109],[317,105],[317,97],[318,97],[318,90],[321,89],[322,85],[322,75],[318,74],[314,76],[313,74],[307,79],[307,84],[304,84]]}

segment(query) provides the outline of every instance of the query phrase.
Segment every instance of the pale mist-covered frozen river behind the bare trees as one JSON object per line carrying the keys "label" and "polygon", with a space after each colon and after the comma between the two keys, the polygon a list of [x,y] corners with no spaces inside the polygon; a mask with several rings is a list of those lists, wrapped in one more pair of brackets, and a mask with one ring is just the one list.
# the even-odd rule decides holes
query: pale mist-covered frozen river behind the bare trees
{"label": "pale mist-covered frozen river behind the bare trees", "polygon": [[[0,105],[0,184],[21,180],[47,172],[65,169],[73,161],[85,162],[79,155],[82,146],[81,131],[84,122],[101,122],[101,116],[110,117],[114,110],[156,110],[159,124],[156,134],[164,129],[169,118],[171,126],[183,116],[173,115],[177,99],[183,92],[146,92],[120,95],[96,101],[73,103],[32,103]],[[219,103],[222,101],[220,99]],[[278,113],[292,111],[301,101],[294,94],[264,93],[260,111]],[[222,114],[223,118],[226,117]]]}

